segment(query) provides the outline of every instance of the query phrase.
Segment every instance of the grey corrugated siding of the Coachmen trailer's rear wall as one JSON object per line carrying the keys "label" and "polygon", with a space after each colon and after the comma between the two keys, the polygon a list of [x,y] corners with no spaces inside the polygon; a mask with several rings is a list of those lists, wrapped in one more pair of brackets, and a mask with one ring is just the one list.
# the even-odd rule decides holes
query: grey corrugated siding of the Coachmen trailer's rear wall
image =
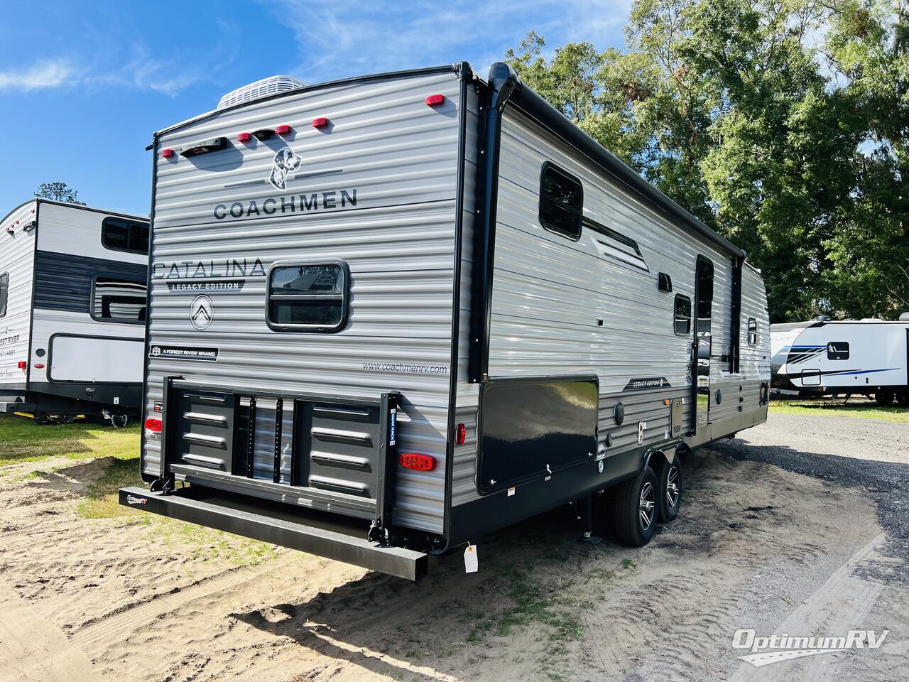
{"label": "grey corrugated siding of the Coachmen trailer's rear wall", "polygon": [[[443,107],[424,103],[445,95]],[[454,74],[421,75],[328,88],[251,104],[167,134],[177,148],[215,135],[230,148],[175,162],[158,159],[153,235],[151,342],[217,346],[216,363],[153,359],[147,404],[162,394],[163,377],[199,384],[288,390],[332,396],[399,391],[398,448],[433,455],[431,472],[399,469],[395,523],[440,533],[445,497],[445,441],[454,263],[457,112]],[[327,116],[328,132],[313,129]],[[256,183],[269,175],[275,145],[245,147],[237,132],[292,125],[289,145],[303,158],[300,173],[340,170],[288,186],[293,193],[355,187],[356,206],[330,212],[213,220],[218,203],[280,196]],[[272,141],[269,141],[269,143]],[[285,143],[281,143],[284,145]],[[209,158],[206,158],[208,156]],[[170,264],[203,259],[267,270],[275,261],[341,258],[350,266],[349,321],[337,334],[281,333],[265,324],[265,277],[246,276],[240,292],[212,293],[214,322],[195,331],[188,310],[198,292],[169,291]],[[258,272],[262,272],[260,269]],[[171,280],[173,281],[173,280]],[[438,367],[425,373],[369,369],[366,363]],[[284,468],[284,467],[283,467]],[[158,444],[146,442],[143,469],[159,475]]]}

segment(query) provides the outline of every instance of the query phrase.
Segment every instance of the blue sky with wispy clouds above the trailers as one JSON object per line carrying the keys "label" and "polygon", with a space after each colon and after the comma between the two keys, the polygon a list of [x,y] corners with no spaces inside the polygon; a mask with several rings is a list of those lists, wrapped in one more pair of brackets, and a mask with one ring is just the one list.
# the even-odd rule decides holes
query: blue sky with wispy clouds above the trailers
{"label": "blue sky with wispy clouds above the trailers", "polygon": [[146,215],[152,132],[267,75],[305,83],[466,59],[484,73],[533,29],[622,43],[627,0],[14,1],[0,24],[0,215],[42,182]]}

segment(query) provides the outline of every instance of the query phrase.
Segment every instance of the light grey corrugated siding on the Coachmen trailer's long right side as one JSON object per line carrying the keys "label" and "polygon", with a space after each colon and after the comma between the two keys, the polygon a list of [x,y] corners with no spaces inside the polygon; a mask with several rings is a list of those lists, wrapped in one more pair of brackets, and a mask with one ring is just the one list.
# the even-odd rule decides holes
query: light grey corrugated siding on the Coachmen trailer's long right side
{"label": "light grey corrugated siding on the Coachmen trailer's long right side", "polygon": [[[633,238],[649,272],[603,256],[602,236],[584,227],[579,241],[555,235],[538,217],[540,173],[551,161],[581,179],[584,216]],[[490,376],[559,376],[594,373],[600,380],[599,439],[612,434],[607,457],[669,437],[670,408],[664,399],[683,397],[690,420],[692,335],[675,336],[676,294],[694,303],[697,256],[714,263],[714,355],[728,353],[732,262],[701,243],[592,169],[584,157],[513,110],[505,110],[499,165],[495,236]],[[672,277],[673,292],[657,290],[657,274]],[[602,320],[602,326],[600,325]],[[464,322],[465,324],[465,322]],[[694,328],[694,321],[692,327]],[[717,380],[723,367],[712,363]],[[725,366],[728,369],[728,365]],[[665,377],[671,387],[626,392],[634,377]],[[460,421],[474,416],[477,393],[458,400]],[[472,400],[472,403],[469,401]],[[622,401],[624,424],[614,423]],[[469,429],[468,429],[469,433]],[[474,441],[471,441],[475,443]],[[475,446],[455,453],[453,504],[478,495],[472,487]]]}

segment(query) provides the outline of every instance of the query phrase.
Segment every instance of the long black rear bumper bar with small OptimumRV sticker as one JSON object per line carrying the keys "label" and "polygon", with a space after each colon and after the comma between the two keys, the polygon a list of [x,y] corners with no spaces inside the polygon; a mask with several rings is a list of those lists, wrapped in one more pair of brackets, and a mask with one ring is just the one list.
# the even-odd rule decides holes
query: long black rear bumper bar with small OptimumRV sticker
{"label": "long black rear bumper bar with small OptimumRV sticker", "polygon": [[189,486],[164,495],[143,487],[120,488],[120,504],[200,526],[290,547],[391,576],[416,580],[426,575],[428,557],[404,547],[383,547],[364,537],[362,523],[281,503]]}

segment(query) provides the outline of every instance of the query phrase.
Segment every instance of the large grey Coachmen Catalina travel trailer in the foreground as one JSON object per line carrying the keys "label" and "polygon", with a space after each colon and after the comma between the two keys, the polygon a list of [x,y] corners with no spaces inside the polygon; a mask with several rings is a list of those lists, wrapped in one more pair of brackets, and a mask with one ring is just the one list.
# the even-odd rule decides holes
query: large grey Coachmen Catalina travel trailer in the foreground
{"label": "large grey Coachmen Catalina travel trailer in the foreground", "polygon": [[615,486],[643,544],[676,453],[766,419],[760,274],[507,65],[301,86],[153,148],[151,489],[122,504],[415,578]]}

